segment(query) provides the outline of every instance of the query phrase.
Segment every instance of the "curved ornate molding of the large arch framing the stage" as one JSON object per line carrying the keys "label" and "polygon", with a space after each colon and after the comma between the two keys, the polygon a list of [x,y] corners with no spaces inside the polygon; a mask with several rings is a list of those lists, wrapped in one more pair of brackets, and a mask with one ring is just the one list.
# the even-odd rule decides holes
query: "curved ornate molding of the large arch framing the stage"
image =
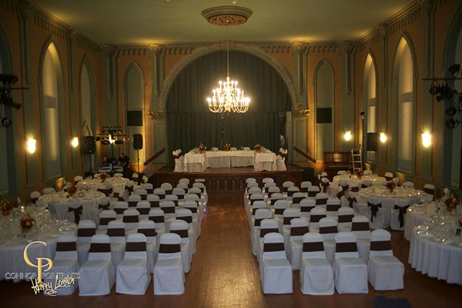
{"label": "curved ornate molding of the large arch framing the stage", "polygon": [[[157,112],[165,112],[166,108],[166,101],[168,99],[168,94],[170,92],[170,88],[172,87],[172,84],[174,83],[175,79],[177,79],[177,76],[185,68],[188,66],[190,63],[195,61],[196,59],[199,59],[200,57],[205,56],[206,54],[211,54],[212,52],[218,52],[221,50],[225,50],[226,46],[225,43],[218,43],[214,45],[210,45],[207,47],[203,48],[196,48],[194,49],[191,54],[188,54],[186,57],[183,57],[177,65],[174,66],[170,74],[165,78],[164,83],[163,83],[163,88],[161,91],[161,94],[159,96],[159,105],[157,105]],[[277,59],[274,59],[268,52],[265,52],[265,50],[262,50],[261,48],[254,47],[252,45],[244,45],[241,43],[236,43],[236,42],[230,42],[230,50],[235,50],[235,51],[240,51],[240,52],[245,52],[248,54],[252,54],[256,57],[259,57],[266,63],[270,64],[274,70],[276,70],[283,79],[285,85],[288,88],[288,92],[292,98],[292,110],[299,110],[301,103],[299,102],[299,98],[297,96],[297,92],[294,87],[292,75],[290,72],[283,66],[282,63],[277,61]]]}

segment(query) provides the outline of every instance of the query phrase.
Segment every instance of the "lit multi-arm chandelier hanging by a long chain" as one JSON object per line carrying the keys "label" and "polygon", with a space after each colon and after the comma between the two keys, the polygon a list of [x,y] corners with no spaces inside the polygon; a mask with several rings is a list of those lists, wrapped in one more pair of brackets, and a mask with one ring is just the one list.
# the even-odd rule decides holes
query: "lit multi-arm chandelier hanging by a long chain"
{"label": "lit multi-arm chandelier hanging by a long chain", "polygon": [[237,88],[237,81],[230,80],[230,48],[228,39],[228,25],[226,26],[226,63],[228,75],[226,81],[219,81],[219,88],[213,90],[213,96],[207,98],[208,109],[211,112],[238,112],[244,113],[249,110],[250,99],[244,96],[244,91]]}

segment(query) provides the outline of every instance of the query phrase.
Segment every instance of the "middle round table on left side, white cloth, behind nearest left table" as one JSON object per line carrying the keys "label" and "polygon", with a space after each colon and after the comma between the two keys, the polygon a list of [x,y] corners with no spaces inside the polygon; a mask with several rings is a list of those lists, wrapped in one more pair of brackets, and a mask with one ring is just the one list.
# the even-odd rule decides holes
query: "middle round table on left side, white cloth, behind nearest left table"
{"label": "middle round table on left side, white cloth, behind nearest left table", "polygon": [[50,213],[59,220],[66,220],[68,209],[71,202],[80,203],[83,205],[81,219],[90,219],[94,223],[98,223],[98,206],[101,204],[106,195],[102,192],[94,192],[92,190],[83,192],[83,196],[79,196],[76,192],[73,197],[70,197],[67,192],[54,192],[45,194],[39,198],[41,203],[46,203]]}

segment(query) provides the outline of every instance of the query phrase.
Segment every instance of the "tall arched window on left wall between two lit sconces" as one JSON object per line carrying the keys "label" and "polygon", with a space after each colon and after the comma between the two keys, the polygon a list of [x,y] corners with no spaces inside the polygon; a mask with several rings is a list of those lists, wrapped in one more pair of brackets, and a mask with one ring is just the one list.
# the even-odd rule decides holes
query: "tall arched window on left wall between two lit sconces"
{"label": "tall arched window on left wall between two lit sconces", "polygon": [[63,174],[66,159],[66,150],[61,147],[61,139],[65,137],[63,71],[54,43],[48,45],[43,56],[41,81],[43,171],[45,179],[50,179]]}

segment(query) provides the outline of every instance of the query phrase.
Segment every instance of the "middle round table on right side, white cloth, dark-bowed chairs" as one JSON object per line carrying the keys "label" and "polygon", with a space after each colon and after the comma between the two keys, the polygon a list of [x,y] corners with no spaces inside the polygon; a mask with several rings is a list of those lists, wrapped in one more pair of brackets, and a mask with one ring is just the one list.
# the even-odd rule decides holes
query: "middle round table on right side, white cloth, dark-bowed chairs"
{"label": "middle round table on right side, white cloth, dark-bowed chairs", "polygon": [[[368,198],[371,196],[377,197],[380,199],[382,208],[385,209],[385,225],[384,227],[390,226],[390,220],[392,218],[392,209],[394,207],[394,203],[396,200],[401,199],[404,200],[406,204],[416,204],[419,203],[421,197],[425,193],[419,189],[414,188],[405,188],[405,187],[396,187],[393,189],[393,192],[390,193],[386,187],[381,186],[372,186],[364,189],[360,189],[359,192],[356,193],[356,201],[358,203],[368,203]],[[369,210],[365,208],[364,210]],[[360,215],[364,215],[363,213],[359,213]]]}

